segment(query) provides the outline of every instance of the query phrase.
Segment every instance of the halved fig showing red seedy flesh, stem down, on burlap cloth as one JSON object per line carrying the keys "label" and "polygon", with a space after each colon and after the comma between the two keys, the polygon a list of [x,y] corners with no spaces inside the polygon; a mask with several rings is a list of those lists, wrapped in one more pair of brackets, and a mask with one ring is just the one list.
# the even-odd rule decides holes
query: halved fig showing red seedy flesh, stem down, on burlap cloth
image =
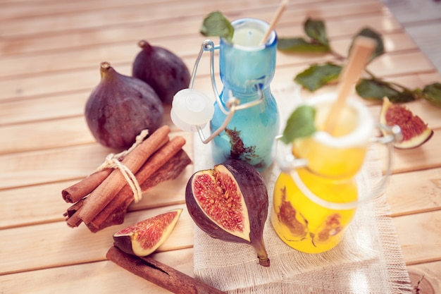
{"label": "halved fig showing red seedy flesh, stem down, on burlap cloth", "polygon": [[185,200],[202,231],[220,240],[250,244],[259,264],[269,267],[263,243],[268,192],[254,166],[230,159],[213,169],[197,171],[187,183]]}

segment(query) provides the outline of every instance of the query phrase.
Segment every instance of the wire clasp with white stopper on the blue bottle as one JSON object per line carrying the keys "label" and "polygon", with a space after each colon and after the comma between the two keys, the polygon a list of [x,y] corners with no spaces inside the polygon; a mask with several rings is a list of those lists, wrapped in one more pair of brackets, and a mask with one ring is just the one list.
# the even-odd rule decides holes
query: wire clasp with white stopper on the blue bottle
{"label": "wire clasp with white stopper on the blue bottle", "polygon": [[[217,49],[220,49],[220,45],[214,45],[213,41],[211,41],[210,39],[206,39],[204,42],[202,42],[201,49],[199,50],[196,61],[194,62],[190,85],[188,89],[180,90],[178,93],[175,94],[175,97],[173,97],[173,104],[170,113],[172,121],[173,123],[175,123],[175,125],[177,125],[182,130],[193,132],[196,131],[204,144],[209,143],[211,140],[214,139],[214,137],[225,130],[236,111],[256,106],[263,101],[263,92],[261,91],[259,83],[256,83],[254,84],[254,87],[256,88],[256,92],[258,93],[258,99],[240,104],[240,99],[237,99],[232,91],[229,90],[229,98],[225,102],[224,106],[216,87],[216,78],[214,73],[214,51]],[[203,129],[206,123],[211,121],[211,118],[213,118],[213,99],[206,96],[206,94],[193,89],[199,61],[201,61],[201,57],[205,51],[209,51],[210,53],[210,77],[213,94],[219,106],[219,109],[221,109],[223,114],[225,114],[226,116],[223,124],[217,130],[213,131],[209,137],[206,137],[204,135]]]}

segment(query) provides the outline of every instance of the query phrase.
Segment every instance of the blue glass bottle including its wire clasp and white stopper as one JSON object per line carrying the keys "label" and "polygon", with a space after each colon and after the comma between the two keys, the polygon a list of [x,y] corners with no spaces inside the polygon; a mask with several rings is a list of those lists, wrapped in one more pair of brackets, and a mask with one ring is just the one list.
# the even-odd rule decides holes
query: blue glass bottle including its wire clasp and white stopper
{"label": "blue glass bottle including its wire clasp and white stopper", "polygon": [[[216,164],[226,159],[241,159],[263,171],[272,164],[271,149],[280,124],[270,89],[277,36],[272,31],[263,41],[270,25],[256,18],[241,18],[231,24],[234,27],[232,41],[221,38],[218,46],[211,40],[202,43],[190,89],[175,94],[170,115],[178,127],[198,132],[204,143],[212,142]],[[215,50],[219,51],[221,93],[218,93],[213,71]],[[214,104],[213,99],[192,89],[204,51],[211,54]],[[210,119],[211,134],[206,138],[203,129]]]}

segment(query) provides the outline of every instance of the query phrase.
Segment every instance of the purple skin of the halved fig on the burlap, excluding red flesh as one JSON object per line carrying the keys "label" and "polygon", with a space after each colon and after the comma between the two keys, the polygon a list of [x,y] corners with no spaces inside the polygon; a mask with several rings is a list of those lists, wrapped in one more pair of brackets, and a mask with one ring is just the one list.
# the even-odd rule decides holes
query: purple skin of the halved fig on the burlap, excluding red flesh
{"label": "purple skin of the halved fig on the burlap, excluding red flesh", "polygon": [[228,159],[221,165],[230,171],[244,197],[244,202],[247,205],[249,214],[251,228],[249,238],[251,242],[224,231],[223,228],[211,221],[211,219],[202,212],[199,204],[197,204],[192,190],[193,178],[207,171],[194,173],[187,183],[185,201],[188,212],[194,223],[212,238],[233,243],[247,243],[253,246],[259,258],[259,264],[263,267],[269,267],[270,259],[268,259],[265,244],[263,243],[263,228],[268,216],[268,190],[265,181],[259,171],[245,161]]}

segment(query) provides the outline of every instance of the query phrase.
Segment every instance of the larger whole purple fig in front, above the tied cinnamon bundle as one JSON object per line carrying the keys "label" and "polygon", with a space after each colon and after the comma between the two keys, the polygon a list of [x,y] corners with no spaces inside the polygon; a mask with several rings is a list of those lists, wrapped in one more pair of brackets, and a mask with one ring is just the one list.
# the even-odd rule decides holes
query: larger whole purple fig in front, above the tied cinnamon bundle
{"label": "larger whole purple fig in front, above the tied cinnamon bundle", "polygon": [[153,133],[163,120],[163,104],[142,80],[122,75],[101,63],[101,81],[85,106],[89,130],[101,145],[127,149],[144,129]]}

